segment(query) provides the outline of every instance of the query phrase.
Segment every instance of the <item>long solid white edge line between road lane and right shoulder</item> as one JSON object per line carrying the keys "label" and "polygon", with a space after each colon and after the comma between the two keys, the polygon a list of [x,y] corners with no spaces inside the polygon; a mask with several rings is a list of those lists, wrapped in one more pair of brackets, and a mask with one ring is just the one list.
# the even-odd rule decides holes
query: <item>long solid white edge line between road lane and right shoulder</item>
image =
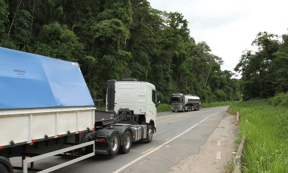
{"label": "long solid white edge line between road lane and right shoulder", "polygon": [[[219,112],[217,112],[217,113],[219,113]],[[215,114],[217,114],[217,113],[215,113]],[[213,114],[213,115],[215,115],[215,114]],[[213,115],[210,115],[210,116],[213,116]],[[207,118],[209,118],[210,116],[208,116]],[[205,118],[204,120],[206,120],[207,118]],[[204,121],[204,120],[202,120],[202,121]],[[131,162],[127,163],[126,165],[122,166],[121,168],[119,168],[118,170],[115,170],[115,171],[112,172],[112,173],[118,173],[118,172],[124,170],[125,168],[127,168],[128,166],[132,165],[133,163],[141,160],[143,157],[146,157],[147,155],[149,155],[149,154],[157,151],[159,148],[161,148],[162,146],[164,146],[164,145],[168,144],[169,142],[175,140],[176,138],[178,138],[179,136],[183,135],[183,134],[186,133],[187,131],[191,130],[191,129],[194,128],[196,125],[200,124],[202,121],[200,121],[199,123],[193,125],[192,127],[190,127],[189,129],[185,130],[184,132],[180,133],[179,135],[175,136],[174,138],[168,140],[168,141],[165,142],[164,144],[159,145],[158,147],[154,148],[153,150],[149,151],[148,153],[145,153],[144,155],[138,157],[137,159],[132,160]]]}

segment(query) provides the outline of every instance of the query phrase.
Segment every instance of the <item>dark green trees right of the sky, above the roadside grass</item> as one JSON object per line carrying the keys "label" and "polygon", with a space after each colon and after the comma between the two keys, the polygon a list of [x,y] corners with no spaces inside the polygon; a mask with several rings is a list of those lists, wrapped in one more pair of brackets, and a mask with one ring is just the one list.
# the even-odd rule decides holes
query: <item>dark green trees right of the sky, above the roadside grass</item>
{"label": "dark green trees right of the sky, above the roadside grass", "polygon": [[243,99],[268,98],[288,91],[288,35],[281,41],[275,34],[259,33],[252,45],[256,52],[247,50],[235,71],[242,73]]}

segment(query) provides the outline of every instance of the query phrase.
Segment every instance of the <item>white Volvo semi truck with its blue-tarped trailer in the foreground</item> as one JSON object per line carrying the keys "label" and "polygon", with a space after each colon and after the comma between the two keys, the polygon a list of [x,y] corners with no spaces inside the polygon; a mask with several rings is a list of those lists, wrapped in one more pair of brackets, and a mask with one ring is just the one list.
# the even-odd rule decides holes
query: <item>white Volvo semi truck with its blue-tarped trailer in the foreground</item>
{"label": "white Volvo semi truck with its blue-tarped trailer in the foreground", "polygon": [[[147,82],[108,80],[107,111],[98,111],[77,63],[0,47],[0,173],[51,172],[95,153],[128,153],[135,141],[149,143],[158,95]],[[22,167],[8,159],[18,156]],[[34,168],[51,156],[73,160]]]}

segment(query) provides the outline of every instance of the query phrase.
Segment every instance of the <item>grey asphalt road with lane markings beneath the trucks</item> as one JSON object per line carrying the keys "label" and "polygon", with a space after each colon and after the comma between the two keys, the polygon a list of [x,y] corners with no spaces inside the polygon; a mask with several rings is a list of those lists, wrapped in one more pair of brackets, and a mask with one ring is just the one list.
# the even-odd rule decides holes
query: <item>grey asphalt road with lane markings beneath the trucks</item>
{"label": "grey asphalt road with lane markings beneath the trucks", "polygon": [[[170,172],[181,160],[199,153],[200,146],[217,128],[223,118],[219,111],[228,106],[202,108],[191,112],[164,112],[157,114],[157,131],[151,143],[132,143],[128,154],[115,157],[96,155],[66,166],[57,173],[139,173]],[[69,161],[63,157],[50,157],[35,162],[34,168],[49,168]],[[21,166],[19,158],[11,159],[13,166]],[[22,172],[16,171],[15,172]]]}

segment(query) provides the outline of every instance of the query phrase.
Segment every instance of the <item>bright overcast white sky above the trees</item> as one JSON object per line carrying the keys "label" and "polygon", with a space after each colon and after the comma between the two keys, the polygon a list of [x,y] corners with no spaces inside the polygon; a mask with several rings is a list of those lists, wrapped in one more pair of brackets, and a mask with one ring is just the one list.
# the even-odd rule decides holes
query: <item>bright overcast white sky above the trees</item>
{"label": "bright overcast white sky above the trees", "polygon": [[288,33],[288,0],[149,0],[152,8],[182,13],[190,35],[205,41],[224,60],[222,70],[233,71],[259,31]]}

